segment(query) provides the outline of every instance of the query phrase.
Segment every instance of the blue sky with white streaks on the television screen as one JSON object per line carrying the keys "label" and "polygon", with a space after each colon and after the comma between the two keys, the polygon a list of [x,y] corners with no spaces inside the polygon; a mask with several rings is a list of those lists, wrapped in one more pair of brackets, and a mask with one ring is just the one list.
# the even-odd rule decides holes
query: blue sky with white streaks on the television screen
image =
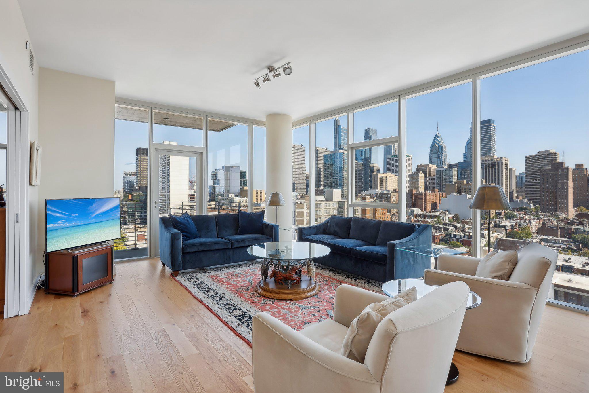
{"label": "blue sky with white streaks on the television screen", "polygon": [[118,219],[119,203],[118,198],[48,200],[47,227],[51,230]]}

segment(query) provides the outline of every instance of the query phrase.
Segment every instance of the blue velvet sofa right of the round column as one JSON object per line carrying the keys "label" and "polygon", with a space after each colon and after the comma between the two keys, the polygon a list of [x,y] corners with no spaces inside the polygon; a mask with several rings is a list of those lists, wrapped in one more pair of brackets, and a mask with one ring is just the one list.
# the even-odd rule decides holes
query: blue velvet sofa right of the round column
{"label": "blue velvet sofa right of the round column", "polygon": [[315,262],[379,282],[419,278],[423,270],[431,268],[430,257],[398,250],[431,246],[431,225],[331,216],[297,230],[298,241],[331,249],[329,255]]}

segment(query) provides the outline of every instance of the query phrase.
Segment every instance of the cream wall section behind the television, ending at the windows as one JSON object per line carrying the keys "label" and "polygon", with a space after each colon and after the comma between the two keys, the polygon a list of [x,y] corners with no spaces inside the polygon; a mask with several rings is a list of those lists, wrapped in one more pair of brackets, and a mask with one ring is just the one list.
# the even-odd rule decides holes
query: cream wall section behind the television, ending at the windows
{"label": "cream wall section behind the television, ending at the windows", "polygon": [[39,69],[39,271],[45,249],[45,199],[112,196],[114,101],[112,81]]}

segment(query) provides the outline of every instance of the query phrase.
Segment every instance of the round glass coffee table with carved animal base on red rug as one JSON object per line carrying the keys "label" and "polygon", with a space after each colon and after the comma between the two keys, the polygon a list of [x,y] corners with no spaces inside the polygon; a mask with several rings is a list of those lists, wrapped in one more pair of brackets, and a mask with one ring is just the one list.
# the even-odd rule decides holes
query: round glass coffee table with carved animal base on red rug
{"label": "round glass coffee table with carved animal base on red rug", "polygon": [[313,258],[330,252],[327,246],[307,242],[269,242],[248,247],[247,253],[262,258],[256,292],[266,298],[281,300],[300,300],[317,295],[320,286],[315,280]]}

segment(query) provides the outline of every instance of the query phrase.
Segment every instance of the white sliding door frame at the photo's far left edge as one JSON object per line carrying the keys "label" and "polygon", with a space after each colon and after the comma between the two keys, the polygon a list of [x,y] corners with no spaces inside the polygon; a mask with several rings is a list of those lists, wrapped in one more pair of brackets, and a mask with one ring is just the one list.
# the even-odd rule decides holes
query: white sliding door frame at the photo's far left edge
{"label": "white sliding door frame at the photo's far left edge", "polygon": [[[6,292],[4,318],[29,312],[35,295],[38,276],[28,282],[34,259],[29,258],[29,111],[8,74],[0,65],[0,84],[4,88],[1,100],[12,107],[6,130]],[[6,95],[8,100],[4,98]],[[14,202],[14,203],[13,203]],[[17,218],[18,217],[18,218]],[[29,266],[31,265],[31,266]]]}

